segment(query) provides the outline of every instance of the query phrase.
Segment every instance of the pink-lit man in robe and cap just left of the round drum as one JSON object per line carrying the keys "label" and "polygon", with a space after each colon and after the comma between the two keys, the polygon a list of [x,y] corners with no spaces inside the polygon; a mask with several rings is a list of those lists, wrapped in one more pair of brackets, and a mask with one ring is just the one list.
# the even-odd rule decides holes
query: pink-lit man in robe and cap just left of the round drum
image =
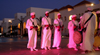
{"label": "pink-lit man in robe and cap just left of the round drum", "polygon": [[72,20],[68,23],[68,29],[69,29],[69,43],[68,43],[68,48],[74,48],[74,50],[78,50],[76,48],[76,43],[73,40],[73,34],[74,34],[74,29],[76,26],[79,26],[78,22],[76,21],[76,15],[72,15]]}

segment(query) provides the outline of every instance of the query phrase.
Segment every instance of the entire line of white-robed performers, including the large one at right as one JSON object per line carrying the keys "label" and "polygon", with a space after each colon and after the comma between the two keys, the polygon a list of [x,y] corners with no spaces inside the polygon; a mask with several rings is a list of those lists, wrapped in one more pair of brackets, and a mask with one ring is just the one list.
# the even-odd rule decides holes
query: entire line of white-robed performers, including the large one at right
{"label": "entire line of white-robed performers, including the large one at right", "polygon": [[[95,31],[95,15],[91,15],[92,12],[88,10],[87,13],[85,13],[80,22],[78,23],[76,21],[76,15],[72,15],[72,20],[68,23],[68,29],[69,29],[69,43],[68,48],[74,48],[74,50],[78,50],[76,47],[76,43],[73,39],[74,31],[79,30],[77,27],[81,27],[80,30],[85,28],[85,31],[83,31],[83,41],[80,43],[80,49],[84,51],[92,51],[93,50],[93,43],[94,43],[94,31]],[[28,44],[27,48],[30,48],[31,51],[36,49],[37,45],[37,21],[35,19],[35,12],[32,12],[31,18],[27,20],[26,28],[28,29]],[[90,17],[91,16],[91,17]],[[51,24],[51,19],[49,18],[49,12],[45,12],[45,17],[42,18],[42,39],[41,39],[41,48],[45,50],[50,50],[51,47],[51,36],[52,36],[52,29],[54,27],[54,39],[53,39],[53,45],[52,47],[56,47],[57,49],[60,49],[60,43],[61,43],[61,31],[63,31],[64,24],[63,21],[60,19],[61,14],[57,14],[57,19],[54,20],[53,25]],[[89,18],[90,17],[90,18]],[[88,21],[87,21],[88,20]],[[87,21],[87,22],[86,22]],[[85,24],[86,23],[86,24]],[[79,25],[80,24],[80,25]]]}

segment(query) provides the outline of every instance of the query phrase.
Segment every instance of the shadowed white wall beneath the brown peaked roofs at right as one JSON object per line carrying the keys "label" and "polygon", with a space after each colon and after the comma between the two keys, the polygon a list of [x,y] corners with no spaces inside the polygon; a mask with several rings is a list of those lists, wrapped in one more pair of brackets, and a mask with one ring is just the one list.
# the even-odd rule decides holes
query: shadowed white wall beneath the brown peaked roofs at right
{"label": "shadowed white wall beneath the brown peaked roofs at right", "polygon": [[[68,11],[67,9],[59,11],[62,15],[62,20],[64,22],[64,31],[62,32],[62,35],[67,35],[69,33],[68,32],[69,16],[76,14],[77,18],[79,19],[80,16],[82,16],[85,13],[85,11],[87,10],[87,7],[88,7],[87,5],[82,5],[82,6],[74,7],[72,11]],[[66,20],[65,20],[65,17],[66,17]]]}

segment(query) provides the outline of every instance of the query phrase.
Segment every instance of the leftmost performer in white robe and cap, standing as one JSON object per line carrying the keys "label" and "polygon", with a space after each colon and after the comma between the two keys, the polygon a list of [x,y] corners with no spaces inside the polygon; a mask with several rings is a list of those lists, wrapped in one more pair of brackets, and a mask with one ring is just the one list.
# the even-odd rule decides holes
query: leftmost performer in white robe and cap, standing
{"label": "leftmost performer in white robe and cap, standing", "polygon": [[[36,44],[37,44],[37,28],[35,26],[37,26],[37,21],[35,18],[35,12],[32,12],[31,14],[31,18],[27,20],[26,23],[26,28],[28,29],[28,44],[27,44],[27,48],[30,48],[31,51],[36,49]],[[34,24],[33,24],[34,23]]]}

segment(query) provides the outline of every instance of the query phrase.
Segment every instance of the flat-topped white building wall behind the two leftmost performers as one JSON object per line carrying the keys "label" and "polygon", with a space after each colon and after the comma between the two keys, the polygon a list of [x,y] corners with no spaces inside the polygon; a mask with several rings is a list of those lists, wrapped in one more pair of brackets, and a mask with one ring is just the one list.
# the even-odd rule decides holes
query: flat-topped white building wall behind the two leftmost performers
{"label": "flat-topped white building wall behind the two leftmost performers", "polygon": [[[31,12],[35,12],[35,14],[36,14],[36,18],[38,18],[38,19],[40,19],[40,17],[44,17],[45,16],[45,12],[46,11],[51,11],[52,9],[46,9],[46,8],[36,8],[36,7],[30,7],[30,8],[27,8],[26,9],[26,17],[25,17],[25,19],[23,20],[23,22],[27,22],[27,19],[29,19],[30,18],[30,13]],[[39,24],[39,25],[41,25],[40,24],[40,21],[37,19],[37,23]],[[27,30],[26,30],[26,33],[27,33]]]}

